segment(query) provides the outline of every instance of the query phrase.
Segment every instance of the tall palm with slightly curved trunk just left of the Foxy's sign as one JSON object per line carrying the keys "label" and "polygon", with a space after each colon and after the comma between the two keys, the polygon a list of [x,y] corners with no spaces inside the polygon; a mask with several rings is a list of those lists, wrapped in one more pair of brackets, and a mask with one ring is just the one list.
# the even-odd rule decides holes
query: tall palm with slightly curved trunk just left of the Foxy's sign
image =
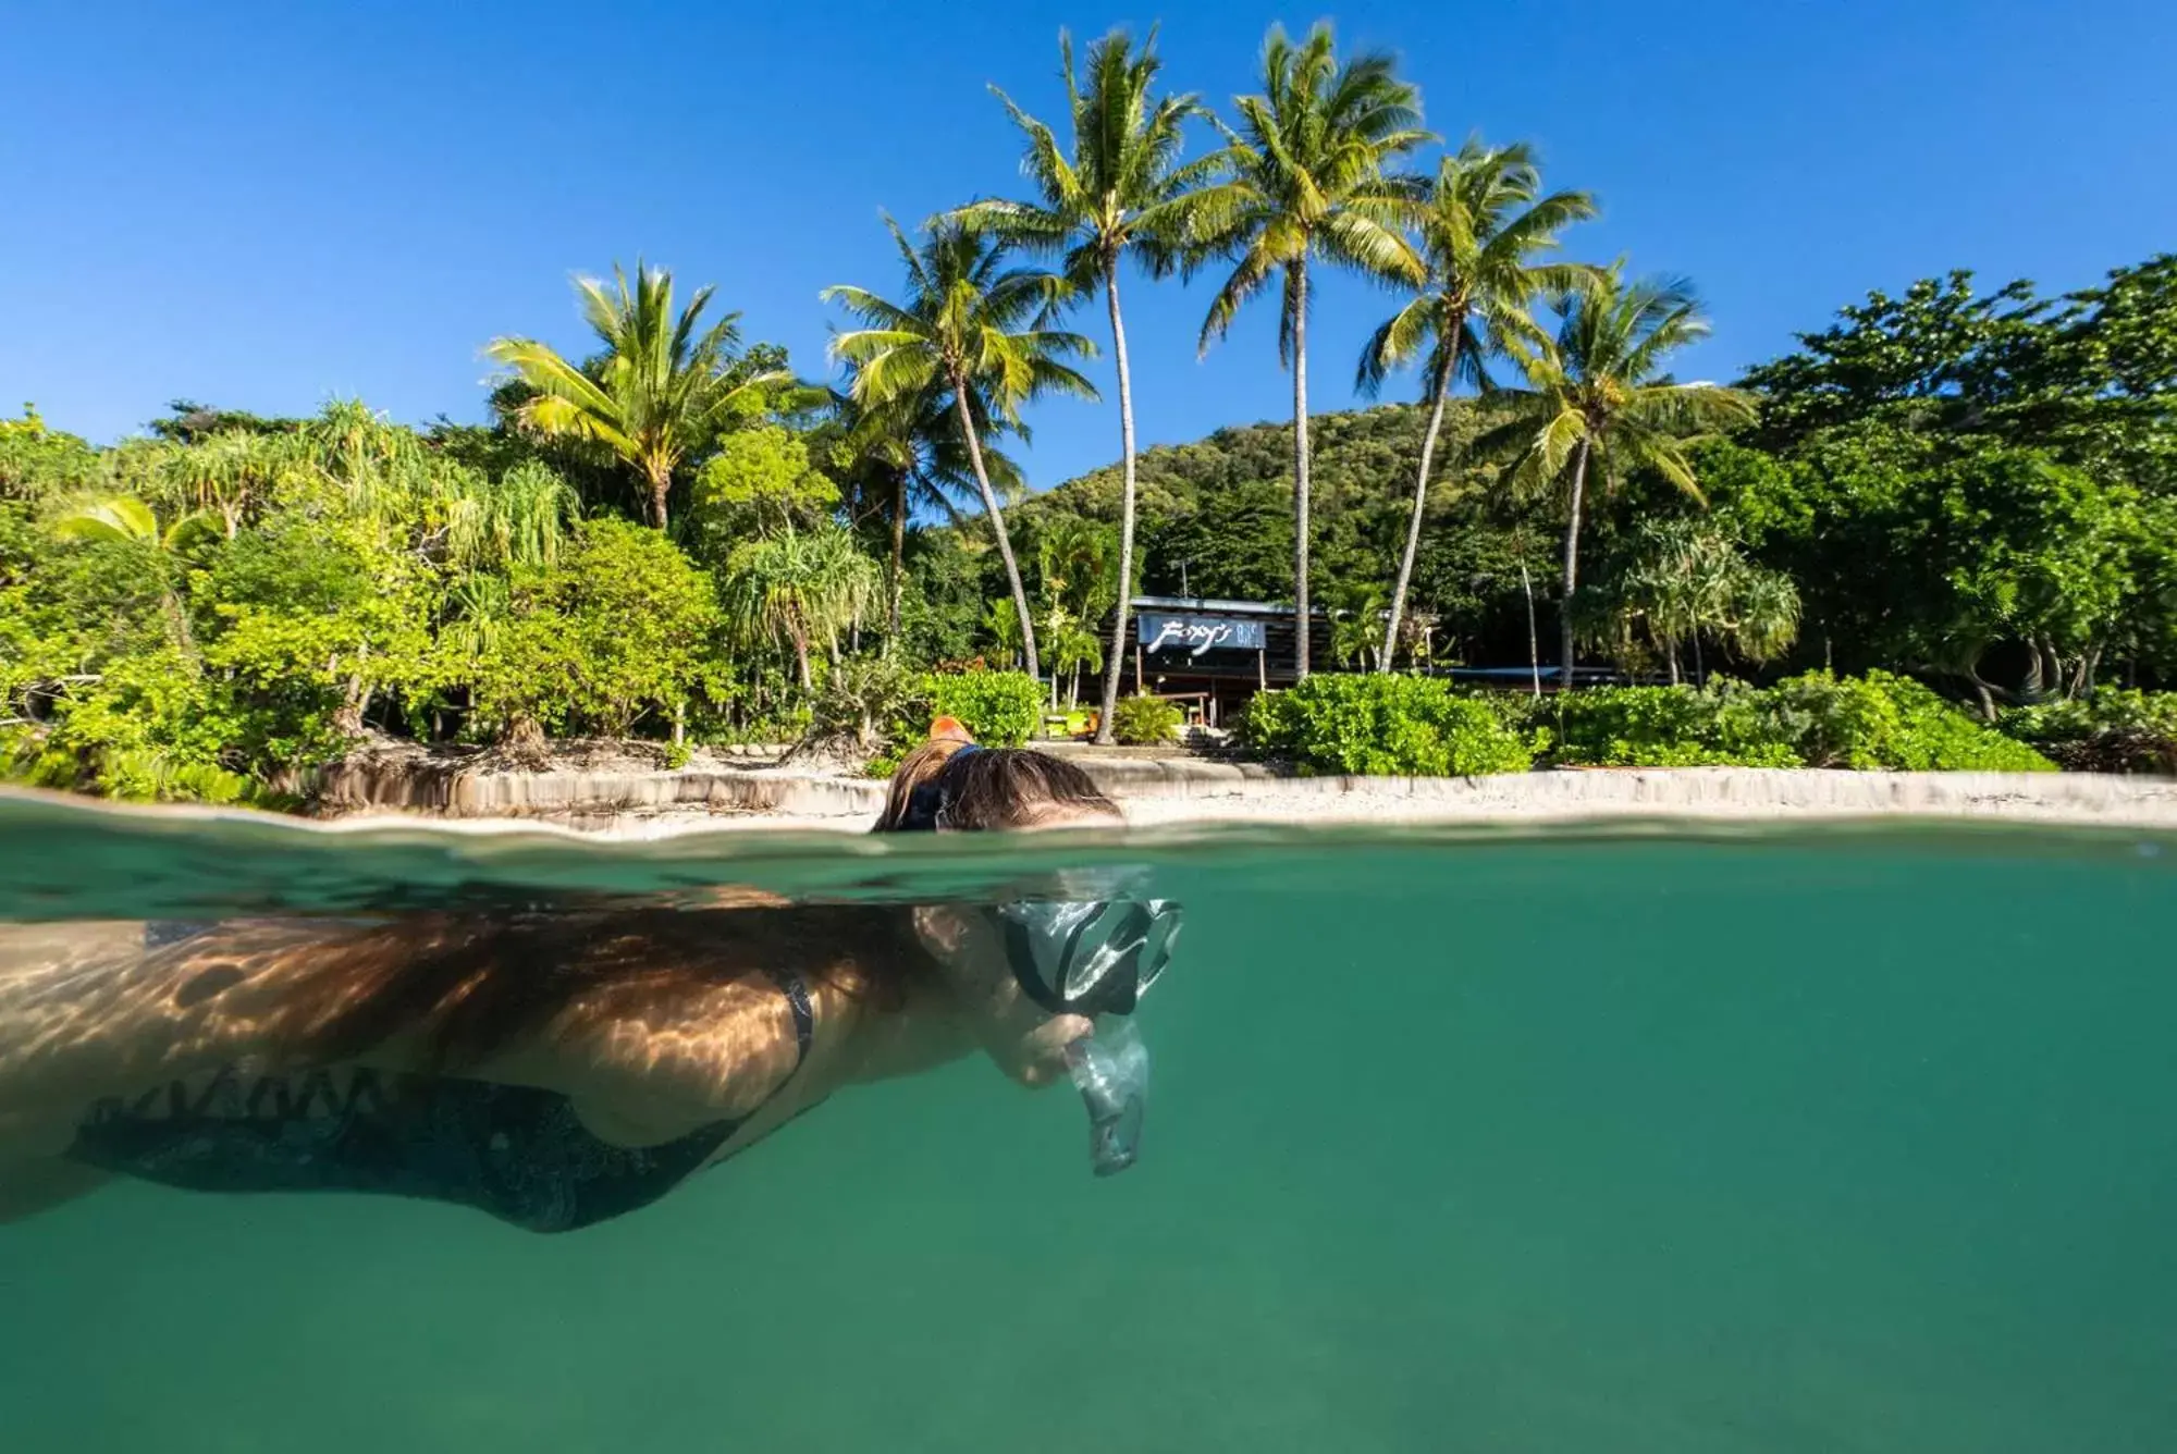
{"label": "tall palm with slightly curved trunk just left of the Foxy's sign", "polygon": [[[969,226],[1062,257],[1060,268],[1075,294],[1104,289],[1110,309],[1112,361],[1119,370],[1119,579],[1134,577],[1134,381],[1126,359],[1126,320],[1119,311],[1119,263],[1132,252],[1149,276],[1165,276],[1180,261],[1195,231],[1197,187],[1217,157],[1180,165],[1184,126],[1206,115],[1189,96],[1152,96],[1156,30],[1136,52],[1123,30],[1112,30],[1088,48],[1086,85],[1073,74],[1073,39],[1058,33],[1058,59],[1067,78],[1067,115],[1073,124],[1073,155],[1067,157],[1049,126],[1012,104],[1014,126],[1028,135],[1021,172],[1041,194],[1034,202],[973,202],[960,209]],[[1110,670],[1104,673],[1104,714],[1097,742],[1112,740],[1119,705],[1119,664],[1126,657],[1128,599],[1119,592],[1112,625]]]}

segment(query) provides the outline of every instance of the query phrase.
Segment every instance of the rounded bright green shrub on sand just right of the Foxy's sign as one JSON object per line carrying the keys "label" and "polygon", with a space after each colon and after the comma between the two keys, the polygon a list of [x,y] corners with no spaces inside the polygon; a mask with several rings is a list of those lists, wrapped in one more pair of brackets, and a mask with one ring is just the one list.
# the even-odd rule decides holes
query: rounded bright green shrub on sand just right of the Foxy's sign
{"label": "rounded bright green shrub on sand just right of the Foxy's sign", "polygon": [[1432,677],[1308,677],[1258,694],[1241,740],[1304,773],[1467,777],[1533,762],[1533,744],[1496,712]]}

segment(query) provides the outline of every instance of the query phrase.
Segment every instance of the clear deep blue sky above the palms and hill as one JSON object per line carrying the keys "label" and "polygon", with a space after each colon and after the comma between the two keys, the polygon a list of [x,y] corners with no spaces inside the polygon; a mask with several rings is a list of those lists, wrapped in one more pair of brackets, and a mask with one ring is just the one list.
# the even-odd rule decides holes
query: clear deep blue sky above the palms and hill
{"label": "clear deep blue sky above the palms and hill", "polygon": [[[1254,89],[1271,20],[1165,4],[24,4],[0,46],[0,409],[111,440],[198,401],[359,394],[481,418],[499,333],[583,348],[568,274],[640,252],[823,370],[827,283],[897,285],[906,222],[1019,187],[986,83],[1058,118],[1056,33],[1160,20],[1167,78]],[[1731,377],[1870,287],[1966,266],[2081,287],[2177,246],[2168,0],[1341,4],[1456,141],[1598,194],[1572,255],[1689,274]],[[607,24],[601,24],[607,22]],[[1206,361],[1208,287],[1134,283],[1145,442],[1289,414],[1269,303]],[[1321,289],[1311,396],[1352,401],[1380,294]],[[1099,311],[1082,329],[1104,337]],[[1099,364],[1099,372],[1108,364]],[[1400,394],[1411,392],[1400,385]],[[1032,416],[1030,475],[1117,453]]]}

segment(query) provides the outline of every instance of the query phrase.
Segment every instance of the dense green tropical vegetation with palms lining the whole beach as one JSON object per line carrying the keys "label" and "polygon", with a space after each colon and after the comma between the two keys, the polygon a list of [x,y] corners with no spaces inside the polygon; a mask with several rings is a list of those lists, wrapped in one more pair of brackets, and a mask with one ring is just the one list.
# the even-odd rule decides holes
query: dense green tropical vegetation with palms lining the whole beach
{"label": "dense green tropical vegetation with palms lining the whole beach", "polygon": [[[893,229],[899,292],[829,289],[836,390],[638,266],[581,281],[588,357],[490,346],[488,424],[0,420],[11,775],[276,797],[366,734],[882,755],[934,712],[1025,740],[1099,673],[1104,734],[1158,740],[1169,712],[1117,697],[1121,586],[1313,601],[1332,660],[1400,673],[1254,712],[1315,768],[2177,762],[2177,255],[2064,296],[1918,281],[1687,385],[1692,289],[1565,261],[1594,202],[1524,146],[1413,168],[1432,137],[1389,57],[1274,33],[1217,131],[1147,44],[1065,74],[1056,128],[1004,102],[1034,196]],[[1395,294],[1335,366],[1413,366],[1417,405],[1308,414],[1321,268]],[[1204,346],[1280,298],[1289,422],[1136,455],[1121,279],[1171,272],[1215,283]],[[1119,461],[1028,496],[1021,409],[1095,394],[1062,326],[1091,303]],[[1672,686],[1428,677],[1574,655]]]}

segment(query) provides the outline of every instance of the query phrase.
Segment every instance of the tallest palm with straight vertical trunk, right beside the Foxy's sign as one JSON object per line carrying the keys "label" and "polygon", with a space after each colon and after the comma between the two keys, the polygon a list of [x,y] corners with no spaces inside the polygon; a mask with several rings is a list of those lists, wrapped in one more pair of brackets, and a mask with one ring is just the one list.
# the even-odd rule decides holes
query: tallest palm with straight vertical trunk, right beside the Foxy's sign
{"label": "tallest palm with straight vertical trunk, right beside the Foxy's sign", "polygon": [[1197,200],[1204,248],[1232,255],[1232,274],[1202,322],[1202,353],[1232,316],[1284,272],[1278,355],[1293,370],[1293,625],[1297,675],[1308,675],[1308,261],[1324,259],[1378,279],[1422,281],[1422,257],[1404,235],[1415,187],[1385,165],[1430,139],[1419,91],[1393,74],[1391,57],[1339,65],[1330,26],[1295,46],[1271,26],[1263,46],[1263,94],[1241,96],[1239,131],[1226,128],[1223,181]]}

